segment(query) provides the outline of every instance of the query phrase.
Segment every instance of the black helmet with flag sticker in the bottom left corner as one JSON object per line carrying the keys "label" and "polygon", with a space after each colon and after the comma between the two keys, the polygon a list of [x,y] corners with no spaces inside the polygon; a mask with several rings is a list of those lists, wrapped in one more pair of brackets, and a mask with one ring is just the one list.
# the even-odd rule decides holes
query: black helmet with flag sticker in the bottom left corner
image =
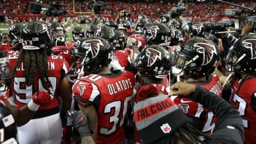
{"label": "black helmet with flag sticker in the bottom left corner", "polygon": [[1,143],[17,143],[17,124],[10,108],[3,101],[0,101],[0,113]]}

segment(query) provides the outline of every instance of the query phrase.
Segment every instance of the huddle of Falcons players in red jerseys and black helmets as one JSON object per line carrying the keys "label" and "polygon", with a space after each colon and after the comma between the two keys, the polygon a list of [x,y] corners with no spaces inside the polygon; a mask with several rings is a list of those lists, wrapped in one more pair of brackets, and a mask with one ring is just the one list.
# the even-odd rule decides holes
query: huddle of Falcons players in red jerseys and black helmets
{"label": "huddle of Falcons players in red jerseys and black helmets", "polygon": [[[2,82],[4,88],[0,87],[0,91],[4,93],[0,98],[10,104],[9,97],[13,97],[17,109],[28,107],[30,110],[31,120],[18,125],[15,139],[20,144],[60,144],[61,141],[69,144],[71,137],[77,143],[89,143],[90,138],[97,144],[126,144],[129,127],[133,127],[133,139],[143,144],[145,139],[143,142],[134,119],[150,119],[153,107],[168,108],[170,104],[151,106],[145,113],[134,116],[134,106],[142,101],[139,97],[143,92],[152,97],[164,94],[170,98],[187,116],[188,123],[202,132],[200,142],[214,134],[221,125],[219,114],[190,97],[171,96],[170,86],[171,81],[183,81],[221,98],[227,77],[218,71],[215,74],[220,63],[216,43],[202,37],[185,41],[182,37],[185,26],[177,28],[169,26],[170,23],[148,22],[144,15],[134,30],[124,23],[122,20],[120,25],[112,26],[108,22],[110,26],[94,31],[90,26],[86,31],[76,27],[71,42],[66,42],[66,31],[57,22],[13,25],[7,34],[10,41],[5,41],[6,34],[1,34],[0,50],[4,56],[0,58],[0,65],[8,58],[10,70],[5,74],[11,80]],[[135,32],[127,36],[123,31]],[[94,36],[87,34],[89,32]],[[176,46],[179,48],[170,49]],[[229,49],[225,64],[226,71],[235,73],[230,80],[233,83],[228,84],[232,87],[229,103],[243,118],[245,144],[256,143],[255,49],[256,36],[243,37]],[[5,80],[4,75],[1,80]],[[145,91],[149,87],[156,91]],[[41,98],[45,101],[40,101]],[[75,121],[67,124],[68,113],[79,110],[87,116],[89,135],[76,129]],[[18,116],[14,113],[14,117],[16,120]],[[78,121],[82,120],[81,117]],[[164,126],[164,133],[171,131]],[[79,134],[81,138],[74,137]]]}

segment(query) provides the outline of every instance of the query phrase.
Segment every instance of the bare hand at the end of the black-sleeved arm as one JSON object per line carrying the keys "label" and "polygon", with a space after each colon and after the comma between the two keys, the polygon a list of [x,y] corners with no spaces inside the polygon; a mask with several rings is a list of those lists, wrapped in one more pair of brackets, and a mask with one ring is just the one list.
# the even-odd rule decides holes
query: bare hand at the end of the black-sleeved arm
{"label": "bare hand at the end of the black-sleeved arm", "polygon": [[196,90],[196,86],[186,82],[176,82],[170,87],[171,96],[190,96]]}

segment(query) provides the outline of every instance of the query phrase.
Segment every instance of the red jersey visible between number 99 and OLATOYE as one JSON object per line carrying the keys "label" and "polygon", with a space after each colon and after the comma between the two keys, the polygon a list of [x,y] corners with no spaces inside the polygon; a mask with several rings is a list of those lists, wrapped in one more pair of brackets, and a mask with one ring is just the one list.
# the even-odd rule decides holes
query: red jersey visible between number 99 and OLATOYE
{"label": "red jersey visible between number 99 and OLATOYE", "polygon": [[[77,80],[78,75],[76,74],[76,68],[75,65],[73,65],[74,60],[71,55],[71,50],[73,47],[66,47],[66,46],[55,46],[53,53],[57,55],[61,55],[63,58],[65,58],[66,62],[68,62],[69,65],[69,71],[68,71],[68,80],[70,83],[70,86],[72,87]],[[72,68],[71,68],[72,66]]]}

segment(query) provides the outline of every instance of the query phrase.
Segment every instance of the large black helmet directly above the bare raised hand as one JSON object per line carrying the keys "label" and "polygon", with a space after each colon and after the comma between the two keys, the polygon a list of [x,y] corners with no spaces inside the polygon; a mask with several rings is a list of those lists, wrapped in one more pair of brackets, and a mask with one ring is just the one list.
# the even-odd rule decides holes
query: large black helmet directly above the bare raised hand
{"label": "large black helmet directly above the bare raised hand", "polygon": [[[200,78],[213,73],[218,62],[218,48],[215,43],[206,38],[194,37],[185,41],[180,51],[175,51],[171,62],[172,73],[184,72],[189,78]],[[198,66],[202,66],[202,69],[197,70]]]}

